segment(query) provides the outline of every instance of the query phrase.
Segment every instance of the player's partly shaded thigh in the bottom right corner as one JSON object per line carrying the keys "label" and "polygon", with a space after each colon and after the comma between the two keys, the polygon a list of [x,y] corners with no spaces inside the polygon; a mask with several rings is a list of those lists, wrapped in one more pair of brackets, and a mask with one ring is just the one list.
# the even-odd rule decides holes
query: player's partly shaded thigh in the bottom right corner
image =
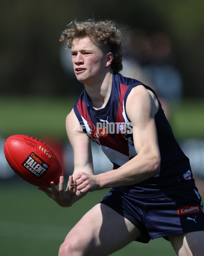
{"label": "player's partly shaded thigh in the bottom right corner", "polygon": [[174,251],[179,256],[204,255],[204,231],[194,231],[169,236]]}

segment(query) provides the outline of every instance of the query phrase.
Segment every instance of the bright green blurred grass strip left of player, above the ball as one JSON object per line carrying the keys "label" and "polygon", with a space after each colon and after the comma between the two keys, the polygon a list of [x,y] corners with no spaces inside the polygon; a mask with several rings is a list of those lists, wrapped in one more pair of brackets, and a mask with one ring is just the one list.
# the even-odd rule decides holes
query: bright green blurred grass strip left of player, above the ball
{"label": "bright green blurred grass strip left of player, above the ball", "polygon": [[4,138],[26,134],[65,139],[65,119],[75,100],[74,97],[0,97],[0,133]]}

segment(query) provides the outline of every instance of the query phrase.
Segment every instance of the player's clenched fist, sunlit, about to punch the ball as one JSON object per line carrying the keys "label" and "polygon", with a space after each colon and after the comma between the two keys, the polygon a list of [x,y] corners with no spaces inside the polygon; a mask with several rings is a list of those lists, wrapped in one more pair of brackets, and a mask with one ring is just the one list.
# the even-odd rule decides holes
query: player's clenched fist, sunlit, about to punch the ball
{"label": "player's clenched fist, sunlit, about to punch the ball", "polygon": [[73,175],[73,180],[77,182],[77,190],[81,193],[99,189],[96,175],[79,172],[76,175]]}

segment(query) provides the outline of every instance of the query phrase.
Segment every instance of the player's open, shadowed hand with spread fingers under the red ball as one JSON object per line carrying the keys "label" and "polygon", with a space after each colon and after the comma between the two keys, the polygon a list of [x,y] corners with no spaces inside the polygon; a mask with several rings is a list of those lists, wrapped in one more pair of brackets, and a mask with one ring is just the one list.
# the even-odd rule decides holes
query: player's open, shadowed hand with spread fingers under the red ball
{"label": "player's open, shadowed hand with spread fingers under the red ball", "polygon": [[73,177],[69,176],[69,181],[67,184],[67,190],[64,191],[64,177],[60,177],[59,182],[59,191],[57,190],[54,182],[50,183],[51,190],[49,188],[38,187],[38,189],[44,191],[48,197],[52,198],[56,203],[58,203],[62,207],[70,207],[72,205],[72,201],[74,195],[77,191],[77,183],[73,181]]}

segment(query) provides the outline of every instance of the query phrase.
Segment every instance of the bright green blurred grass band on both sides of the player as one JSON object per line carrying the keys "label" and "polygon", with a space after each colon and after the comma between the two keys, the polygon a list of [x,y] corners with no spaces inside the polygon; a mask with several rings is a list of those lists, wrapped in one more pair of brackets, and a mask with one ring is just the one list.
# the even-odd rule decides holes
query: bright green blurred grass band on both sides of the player
{"label": "bright green blurred grass band on both sides of the player", "polygon": [[[67,139],[65,119],[77,97],[0,97],[0,133]],[[185,99],[169,120],[177,139],[204,138],[204,100]]]}

